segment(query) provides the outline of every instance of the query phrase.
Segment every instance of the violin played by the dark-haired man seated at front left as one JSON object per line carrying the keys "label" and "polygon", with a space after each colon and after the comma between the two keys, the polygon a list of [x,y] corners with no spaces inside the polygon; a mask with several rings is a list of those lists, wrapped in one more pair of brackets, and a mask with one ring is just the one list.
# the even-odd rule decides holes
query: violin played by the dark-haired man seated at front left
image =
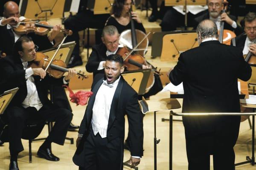
{"label": "violin played by the dark-haired man seated at front left", "polygon": [[[44,55],[42,52],[37,52],[35,59],[31,62],[29,65],[31,68],[43,68],[44,70],[49,65],[49,57]],[[47,69],[47,73],[49,76],[54,77],[56,79],[61,78],[65,72],[68,72],[68,69],[66,68],[66,64],[61,59],[54,59],[52,61],[52,64]],[[78,75],[78,78],[80,79],[82,77],[82,80],[85,78],[88,78],[87,75],[84,75],[84,72],[81,73],[79,71],[76,73]]]}

